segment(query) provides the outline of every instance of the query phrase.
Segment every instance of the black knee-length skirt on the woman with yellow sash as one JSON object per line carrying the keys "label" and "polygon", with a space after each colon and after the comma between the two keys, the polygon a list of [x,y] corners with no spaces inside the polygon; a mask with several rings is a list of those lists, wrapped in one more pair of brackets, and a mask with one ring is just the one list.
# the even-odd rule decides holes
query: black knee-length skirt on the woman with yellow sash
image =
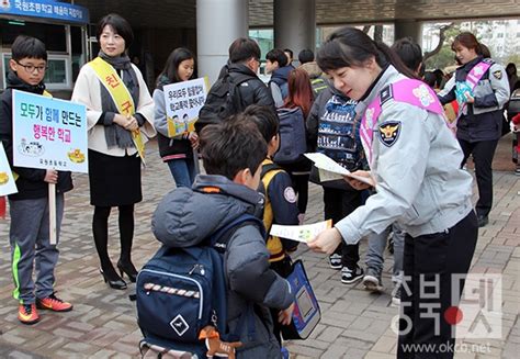
{"label": "black knee-length skirt on the woman with yellow sash", "polygon": [[140,202],[140,158],[109,156],[89,149],[90,204],[128,205]]}

